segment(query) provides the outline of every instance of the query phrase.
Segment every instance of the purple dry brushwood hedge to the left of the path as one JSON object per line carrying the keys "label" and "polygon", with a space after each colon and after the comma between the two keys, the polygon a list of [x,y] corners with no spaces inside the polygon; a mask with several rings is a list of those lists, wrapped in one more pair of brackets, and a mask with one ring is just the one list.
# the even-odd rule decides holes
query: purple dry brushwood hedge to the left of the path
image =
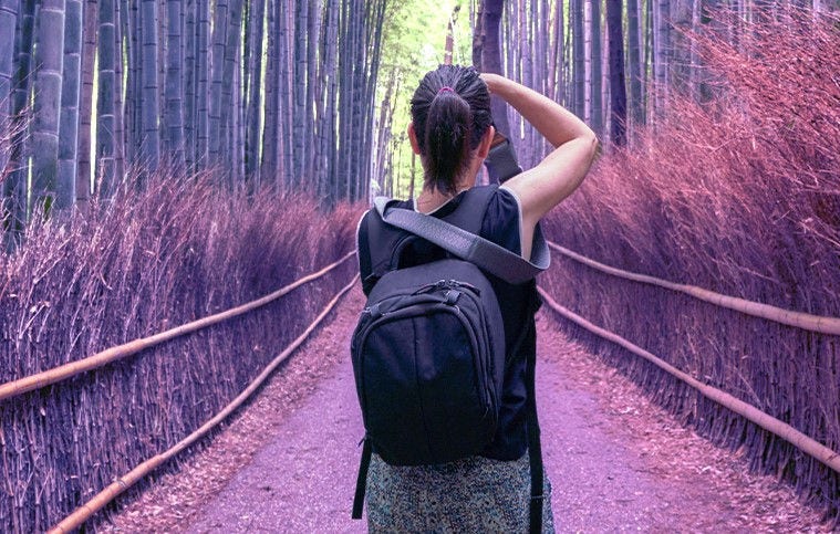
{"label": "purple dry brushwood hedge to the left of the path", "polygon": [[[352,250],[359,213],[159,176],[0,256],[0,383],[242,304]],[[195,430],[294,339],[353,261],[268,306],[0,401],[0,531],[43,531]]]}

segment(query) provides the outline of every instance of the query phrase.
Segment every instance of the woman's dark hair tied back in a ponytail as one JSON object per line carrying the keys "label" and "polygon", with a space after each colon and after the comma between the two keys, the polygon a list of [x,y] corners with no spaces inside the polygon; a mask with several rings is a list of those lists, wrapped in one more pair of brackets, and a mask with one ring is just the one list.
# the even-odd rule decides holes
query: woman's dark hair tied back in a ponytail
{"label": "woman's dark hair tied back in a ponytail", "polygon": [[473,150],[492,124],[490,92],[471,66],[440,65],[426,73],[412,97],[412,121],[425,185],[454,193]]}

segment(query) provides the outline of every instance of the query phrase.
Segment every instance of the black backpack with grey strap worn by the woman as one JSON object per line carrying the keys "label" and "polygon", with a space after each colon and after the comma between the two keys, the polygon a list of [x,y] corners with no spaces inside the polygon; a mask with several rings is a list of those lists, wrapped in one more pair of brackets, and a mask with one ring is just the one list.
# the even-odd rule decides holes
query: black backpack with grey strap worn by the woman
{"label": "black backpack with grey strap worn by the woman", "polygon": [[[393,465],[439,464],[480,453],[496,433],[505,332],[483,270],[525,283],[548,266],[549,255],[541,238],[533,253],[538,266],[477,235],[494,191],[464,193],[447,217],[452,223],[377,198],[360,226],[367,303],[351,344],[365,427],[355,519],[372,448]],[[418,255],[426,262],[416,264]],[[532,397],[532,384],[529,391]],[[539,454],[538,443],[529,449]],[[532,495],[541,498],[541,461],[532,458],[531,465],[539,471]]]}

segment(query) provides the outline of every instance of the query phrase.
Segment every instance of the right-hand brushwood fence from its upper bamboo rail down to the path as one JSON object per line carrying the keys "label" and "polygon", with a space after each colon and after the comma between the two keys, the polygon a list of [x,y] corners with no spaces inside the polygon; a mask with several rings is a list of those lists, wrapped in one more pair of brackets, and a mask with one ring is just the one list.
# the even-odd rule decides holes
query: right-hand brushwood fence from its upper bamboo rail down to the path
{"label": "right-hand brushwood fence from its upper bamboo rail down to the path", "polygon": [[[587,245],[577,234],[566,237]],[[609,249],[604,254],[612,261],[629,255],[635,262],[628,251],[637,243],[615,241],[592,248]],[[560,258],[540,285],[551,307],[569,320],[560,325],[571,337],[684,425],[718,446],[743,450],[750,469],[791,483],[837,524],[840,320],[616,269],[549,245]],[[810,286],[801,291],[801,301],[832,310],[815,300]],[[559,310],[557,302],[568,307]],[[642,357],[628,358],[628,350]]]}

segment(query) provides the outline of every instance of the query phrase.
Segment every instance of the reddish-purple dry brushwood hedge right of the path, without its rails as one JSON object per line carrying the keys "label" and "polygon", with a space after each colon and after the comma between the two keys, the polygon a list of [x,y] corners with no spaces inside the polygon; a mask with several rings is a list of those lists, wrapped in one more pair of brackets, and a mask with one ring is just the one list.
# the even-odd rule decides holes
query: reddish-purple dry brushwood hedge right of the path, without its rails
{"label": "reddish-purple dry brushwood hedge right of the path, without its rails", "polygon": [[[547,224],[603,263],[840,316],[840,32],[781,12],[736,44],[698,39],[717,98],[673,97]],[[840,349],[817,335],[601,274],[554,254],[563,305],[840,451]],[[615,346],[568,326],[703,434],[743,448],[837,521],[840,477]]]}

